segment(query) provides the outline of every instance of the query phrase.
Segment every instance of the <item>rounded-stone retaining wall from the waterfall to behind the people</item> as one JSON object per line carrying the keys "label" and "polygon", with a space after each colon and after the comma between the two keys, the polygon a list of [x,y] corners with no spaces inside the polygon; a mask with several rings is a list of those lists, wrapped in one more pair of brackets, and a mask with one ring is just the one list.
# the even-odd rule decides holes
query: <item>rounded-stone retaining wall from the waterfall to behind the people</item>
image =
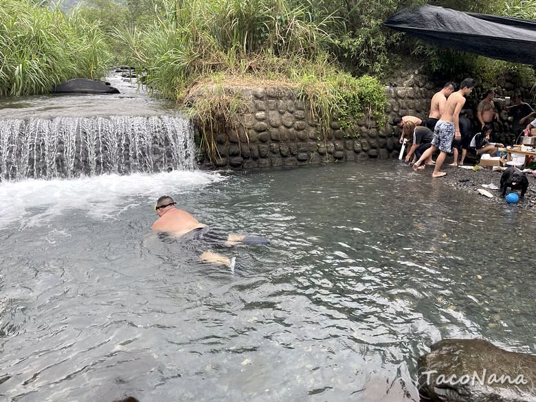
{"label": "rounded-stone retaining wall from the waterfall to behind the people", "polygon": [[[229,93],[240,93],[247,106],[234,115],[236,129],[212,133],[216,143],[217,167],[265,168],[320,164],[333,161],[362,161],[368,158],[398,157],[400,132],[390,122],[397,116],[414,115],[426,120],[430,99],[443,85],[436,85],[426,76],[415,74],[401,85],[386,87],[388,124],[379,128],[375,121],[362,118],[355,126],[332,121],[326,135],[311,116],[304,100],[287,87],[227,87]],[[484,88],[468,99],[469,118],[476,121],[476,104]],[[528,93],[526,89],[520,89]],[[498,96],[511,96],[514,89],[498,89]],[[502,103],[497,102],[500,109]],[[474,116],[473,116],[474,111]],[[506,111],[501,113],[496,140],[513,142],[508,133]],[[477,127],[476,127],[477,129]]]}

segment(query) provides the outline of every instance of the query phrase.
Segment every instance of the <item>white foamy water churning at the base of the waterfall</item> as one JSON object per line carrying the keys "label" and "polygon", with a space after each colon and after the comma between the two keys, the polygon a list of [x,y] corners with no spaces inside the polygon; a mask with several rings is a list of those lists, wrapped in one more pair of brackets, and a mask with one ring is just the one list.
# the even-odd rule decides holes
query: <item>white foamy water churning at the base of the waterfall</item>
{"label": "white foamy water churning at the base of the waterfall", "polygon": [[[183,171],[129,176],[101,175],[79,179],[27,179],[0,185],[0,229],[16,223],[43,225],[54,216],[82,210],[92,219],[116,219],[161,194],[192,192],[226,178],[218,172]],[[139,197],[141,196],[141,197]]]}

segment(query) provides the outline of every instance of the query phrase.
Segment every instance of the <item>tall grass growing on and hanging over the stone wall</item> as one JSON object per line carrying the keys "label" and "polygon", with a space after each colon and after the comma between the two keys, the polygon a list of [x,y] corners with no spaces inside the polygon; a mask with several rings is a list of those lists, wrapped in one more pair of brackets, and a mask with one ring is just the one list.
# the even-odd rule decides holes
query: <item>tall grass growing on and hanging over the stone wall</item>
{"label": "tall grass growing on and hanging over the stone wall", "polygon": [[[239,99],[221,82],[283,85],[311,100],[311,112],[327,129],[335,115],[352,120],[367,114],[381,120],[386,96],[375,78],[356,80],[342,72],[328,50],[333,16],[309,12],[311,5],[289,0],[166,0],[167,12],[144,30],[118,31],[131,49],[144,82],[179,102],[200,85],[220,88],[194,104],[210,157],[210,131],[232,129],[230,113]],[[225,77],[225,78],[222,78]],[[373,96],[370,96],[374,93]]]}

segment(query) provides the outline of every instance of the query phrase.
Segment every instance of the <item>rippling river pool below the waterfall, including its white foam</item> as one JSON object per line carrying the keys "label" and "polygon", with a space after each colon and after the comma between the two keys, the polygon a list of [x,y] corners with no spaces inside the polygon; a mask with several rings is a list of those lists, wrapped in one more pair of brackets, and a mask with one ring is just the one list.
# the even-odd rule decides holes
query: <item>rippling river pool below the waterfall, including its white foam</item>
{"label": "rippling river pool below the waterfall, including its white foam", "polygon": [[[162,194],[271,243],[154,236]],[[533,212],[397,161],[26,179],[0,203],[1,401],[418,401],[440,339],[536,353]]]}

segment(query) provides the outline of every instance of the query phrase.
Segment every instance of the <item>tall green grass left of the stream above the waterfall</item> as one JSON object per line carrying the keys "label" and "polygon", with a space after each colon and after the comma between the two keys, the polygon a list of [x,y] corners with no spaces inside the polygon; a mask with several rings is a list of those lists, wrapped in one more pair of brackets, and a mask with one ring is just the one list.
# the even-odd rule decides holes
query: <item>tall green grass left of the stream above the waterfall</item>
{"label": "tall green grass left of the stream above the waterfall", "polygon": [[98,78],[109,67],[98,26],[78,14],[0,1],[0,96],[49,92],[71,78]]}

